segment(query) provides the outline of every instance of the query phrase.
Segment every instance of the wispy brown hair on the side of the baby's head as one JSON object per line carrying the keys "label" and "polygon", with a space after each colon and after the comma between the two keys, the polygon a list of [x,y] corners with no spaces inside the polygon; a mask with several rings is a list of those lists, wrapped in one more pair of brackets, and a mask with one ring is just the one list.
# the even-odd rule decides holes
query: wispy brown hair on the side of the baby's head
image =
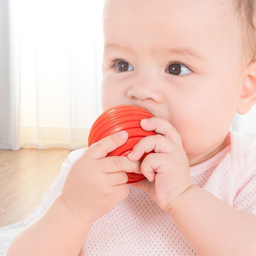
{"label": "wispy brown hair on the side of the baby's head", "polygon": [[[242,31],[242,42],[244,64],[249,64],[256,60],[256,27],[255,27],[255,9],[256,0],[232,0],[234,3],[235,14],[239,15],[239,21]],[[249,62],[248,62],[249,61]]]}

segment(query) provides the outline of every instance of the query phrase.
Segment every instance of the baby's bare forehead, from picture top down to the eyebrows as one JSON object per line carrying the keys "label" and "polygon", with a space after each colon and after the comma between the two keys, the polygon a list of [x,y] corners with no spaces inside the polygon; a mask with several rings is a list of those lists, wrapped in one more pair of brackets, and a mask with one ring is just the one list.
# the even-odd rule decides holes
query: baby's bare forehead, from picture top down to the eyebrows
{"label": "baby's bare forehead, from picture top down to the eyebrows", "polygon": [[213,45],[221,47],[223,41],[236,41],[238,34],[227,2],[108,0],[103,12],[105,41],[136,45],[140,52],[152,54],[168,46],[203,52]]}

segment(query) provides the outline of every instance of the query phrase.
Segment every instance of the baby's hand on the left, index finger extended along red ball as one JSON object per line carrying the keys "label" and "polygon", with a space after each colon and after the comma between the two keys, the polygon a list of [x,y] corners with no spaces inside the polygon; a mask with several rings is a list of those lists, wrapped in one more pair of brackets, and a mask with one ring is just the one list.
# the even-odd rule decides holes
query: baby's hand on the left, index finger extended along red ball
{"label": "baby's hand on the left, index finger extended along red ball", "polygon": [[141,161],[127,156],[107,156],[128,139],[120,132],[109,135],[88,147],[71,165],[64,181],[61,197],[78,219],[93,222],[129,196],[125,172],[141,173]]}

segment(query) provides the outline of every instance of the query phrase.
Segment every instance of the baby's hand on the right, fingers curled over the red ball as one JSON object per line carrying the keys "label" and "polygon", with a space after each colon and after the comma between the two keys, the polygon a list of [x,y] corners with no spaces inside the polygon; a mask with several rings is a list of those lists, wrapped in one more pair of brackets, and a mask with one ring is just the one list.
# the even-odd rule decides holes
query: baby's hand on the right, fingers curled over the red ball
{"label": "baby's hand on the right, fingers curled over the red ball", "polygon": [[145,152],[156,153],[148,154],[141,163],[141,172],[147,179],[129,185],[147,191],[162,210],[170,213],[173,200],[193,186],[188,158],[180,134],[172,124],[160,117],[147,120],[147,124],[140,121],[141,127],[161,134],[142,138],[127,157],[137,161]]}

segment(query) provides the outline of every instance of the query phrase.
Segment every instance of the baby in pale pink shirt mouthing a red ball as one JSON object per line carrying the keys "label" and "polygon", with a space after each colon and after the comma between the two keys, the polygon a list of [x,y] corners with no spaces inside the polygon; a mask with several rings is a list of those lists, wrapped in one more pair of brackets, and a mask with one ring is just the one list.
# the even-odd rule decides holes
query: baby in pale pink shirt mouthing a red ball
{"label": "baby in pale pink shirt mouthing a red ball", "polygon": [[256,103],[254,10],[107,0],[102,111],[148,109],[159,135],[128,156],[105,157],[126,132],[72,151],[7,255],[256,255],[256,141],[229,130]]}

